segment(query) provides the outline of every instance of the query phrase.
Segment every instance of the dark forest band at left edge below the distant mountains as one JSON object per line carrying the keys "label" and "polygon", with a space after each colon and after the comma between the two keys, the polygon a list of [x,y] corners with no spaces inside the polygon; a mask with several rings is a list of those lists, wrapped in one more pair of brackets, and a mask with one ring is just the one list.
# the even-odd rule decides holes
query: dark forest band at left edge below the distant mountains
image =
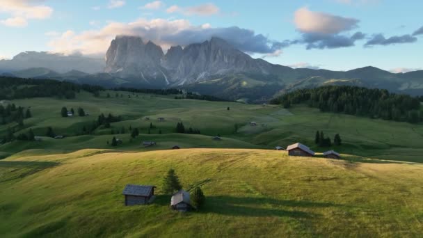
{"label": "dark forest band at left edge below the distant mountains", "polygon": [[81,90],[96,94],[104,90],[100,86],[74,84],[52,79],[21,79],[0,77],[0,100],[14,100],[32,97],[59,97],[72,99]]}

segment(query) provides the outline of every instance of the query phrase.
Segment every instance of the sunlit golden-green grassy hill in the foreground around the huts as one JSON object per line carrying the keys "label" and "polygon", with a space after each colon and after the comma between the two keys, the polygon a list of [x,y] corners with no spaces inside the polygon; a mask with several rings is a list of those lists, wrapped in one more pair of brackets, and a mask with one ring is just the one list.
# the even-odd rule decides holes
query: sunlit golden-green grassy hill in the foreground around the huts
{"label": "sunlit golden-green grassy hill in the foreground around the huts", "polygon": [[[287,157],[274,150],[41,150],[0,161],[4,237],[418,237],[423,166]],[[161,179],[175,168],[200,185],[201,212],[168,208]],[[125,184],[154,184],[152,205],[125,207]]]}

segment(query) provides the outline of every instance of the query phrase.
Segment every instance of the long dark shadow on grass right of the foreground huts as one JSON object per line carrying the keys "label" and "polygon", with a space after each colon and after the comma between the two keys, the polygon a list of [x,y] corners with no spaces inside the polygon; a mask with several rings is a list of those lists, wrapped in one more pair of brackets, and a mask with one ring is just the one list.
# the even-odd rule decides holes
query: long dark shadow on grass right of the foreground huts
{"label": "long dark shadow on grass right of the foreground huts", "polygon": [[230,216],[289,216],[296,218],[317,217],[317,214],[303,212],[305,207],[335,207],[333,203],[314,203],[310,201],[276,200],[273,198],[242,198],[231,196],[212,196],[206,198],[202,212]]}

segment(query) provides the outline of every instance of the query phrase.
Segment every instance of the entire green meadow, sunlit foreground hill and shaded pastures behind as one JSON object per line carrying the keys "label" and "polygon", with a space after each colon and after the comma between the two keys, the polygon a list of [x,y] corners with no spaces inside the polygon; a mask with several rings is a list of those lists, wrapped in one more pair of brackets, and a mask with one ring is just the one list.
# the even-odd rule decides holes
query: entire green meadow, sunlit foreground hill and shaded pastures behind
{"label": "entire green meadow, sunlit foreground hill and shaded pastures behind", "polygon": [[[16,135],[31,128],[41,141],[0,145],[3,237],[422,235],[421,124],[321,113],[306,106],[287,110],[175,100],[172,95],[122,95],[12,101],[33,115]],[[90,115],[62,118],[62,106],[81,107]],[[79,135],[100,113],[122,120]],[[257,126],[250,126],[251,121]],[[178,122],[201,134],[175,133]],[[0,134],[12,126],[1,125]],[[47,127],[65,138],[45,136]],[[125,133],[118,134],[122,127]],[[129,127],[138,128],[140,135],[131,138]],[[332,140],[340,134],[342,145],[314,145],[317,130]],[[218,134],[221,141],[213,139]],[[111,146],[113,136],[122,144]],[[143,141],[157,145],[145,148]],[[296,142],[309,145],[317,157],[288,157],[273,150]],[[182,150],[170,150],[173,145]],[[342,159],[321,156],[332,149]],[[202,188],[204,209],[186,214],[169,209],[170,196],[161,192],[169,168],[176,170],[184,189]],[[125,207],[126,184],[156,185],[157,198],[151,205]]]}

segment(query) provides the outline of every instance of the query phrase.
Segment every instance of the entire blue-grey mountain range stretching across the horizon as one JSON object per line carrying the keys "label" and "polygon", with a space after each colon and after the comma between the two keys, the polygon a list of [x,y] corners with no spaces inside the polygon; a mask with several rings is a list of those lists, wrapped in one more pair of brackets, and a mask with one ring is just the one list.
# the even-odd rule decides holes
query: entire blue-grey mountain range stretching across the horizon
{"label": "entire blue-grey mountain range stretching across the horizon", "polygon": [[262,102],[297,88],[341,84],[423,95],[423,70],[394,74],[374,67],[349,71],[293,69],[252,58],[220,38],[173,46],[164,54],[154,42],[119,35],[105,61],[27,51],[0,61],[0,72],[106,87],[184,88],[230,100]]}

